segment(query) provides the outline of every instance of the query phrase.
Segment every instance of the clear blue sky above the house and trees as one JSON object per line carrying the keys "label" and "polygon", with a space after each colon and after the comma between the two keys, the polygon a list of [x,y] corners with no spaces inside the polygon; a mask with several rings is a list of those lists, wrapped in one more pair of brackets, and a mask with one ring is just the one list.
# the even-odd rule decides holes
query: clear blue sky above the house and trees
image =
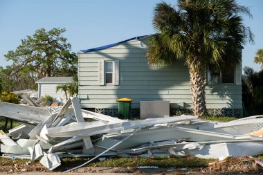
{"label": "clear blue sky above the house and trees", "polygon": [[[176,0],[163,1],[176,5]],[[153,34],[153,9],[158,2],[161,0],[0,0],[0,66],[12,64],[4,55],[39,28],[65,28],[63,36],[75,53]],[[244,24],[255,35],[255,44],[244,46],[242,66],[260,71],[254,57],[263,48],[263,1],[237,0],[237,3],[250,8],[253,19],[244,17]]]}

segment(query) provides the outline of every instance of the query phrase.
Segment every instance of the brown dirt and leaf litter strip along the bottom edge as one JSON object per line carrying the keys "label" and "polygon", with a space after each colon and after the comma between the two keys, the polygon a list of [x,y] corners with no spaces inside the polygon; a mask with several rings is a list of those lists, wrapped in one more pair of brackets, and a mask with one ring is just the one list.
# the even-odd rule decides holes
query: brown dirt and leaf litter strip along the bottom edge
{"label": "brown dirt and leaf litter strip along the bottom edge", "polygon": [[[187,167],[185,165],[185,167]],[[67,167],[61,165],[54,172],[63,172]],[[51,172],[43,167],[39,162],[30,162],[29,160],[12,160],[10,158],[1,158],[0,172],[18,173],[18,172]],[[131,173],[137,174],[259,174],[263,173],[263,168],[255,164],[253,158],[226,158],[225,160],[215,160],[209,163],[205,168],[149,168],[149,167],[82,167],[73,170],[74,173]]]}

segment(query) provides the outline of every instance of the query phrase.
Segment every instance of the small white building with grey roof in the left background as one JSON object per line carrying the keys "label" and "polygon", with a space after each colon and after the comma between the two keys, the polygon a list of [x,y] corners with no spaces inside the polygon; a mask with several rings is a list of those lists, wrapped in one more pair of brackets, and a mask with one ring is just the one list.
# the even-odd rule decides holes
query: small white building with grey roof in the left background
{"label": "small white building with grey roof in the left background", "polygon": [[51,95],[53,98],[66,98],[64,91],[57,91],[58,85],[73,82],[73,77],[42,77],[37,80],[38,84],[38,98],[44,97],[45,95]]}

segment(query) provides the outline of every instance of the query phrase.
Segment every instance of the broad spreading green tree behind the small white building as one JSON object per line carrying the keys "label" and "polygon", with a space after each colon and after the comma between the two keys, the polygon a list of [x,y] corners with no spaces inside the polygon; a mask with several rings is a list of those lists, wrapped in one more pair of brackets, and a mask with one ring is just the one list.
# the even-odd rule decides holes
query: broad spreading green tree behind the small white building
{"label": "broad spreading green tree behind the small white building", "polygon": [[34,71],[38,77],[71,76],[77,73],[78,57],[71,53],[71,44],[62,36],[64,28],[44,28],[36,30],[35,34],[21,40],[21,45],[15,51],[10,50],[5,55],[12,60],[12,73]]}

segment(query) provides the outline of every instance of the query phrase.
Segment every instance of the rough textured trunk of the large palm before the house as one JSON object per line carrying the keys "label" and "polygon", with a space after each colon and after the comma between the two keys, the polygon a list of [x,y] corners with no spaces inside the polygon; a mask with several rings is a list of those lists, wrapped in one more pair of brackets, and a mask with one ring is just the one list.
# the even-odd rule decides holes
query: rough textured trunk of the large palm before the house
{"label": "rough textured trunk of the large palm before the house", "polygon": [[194,116],[206,113],[206,64],[188,65],[192,92],[192,111]]}

